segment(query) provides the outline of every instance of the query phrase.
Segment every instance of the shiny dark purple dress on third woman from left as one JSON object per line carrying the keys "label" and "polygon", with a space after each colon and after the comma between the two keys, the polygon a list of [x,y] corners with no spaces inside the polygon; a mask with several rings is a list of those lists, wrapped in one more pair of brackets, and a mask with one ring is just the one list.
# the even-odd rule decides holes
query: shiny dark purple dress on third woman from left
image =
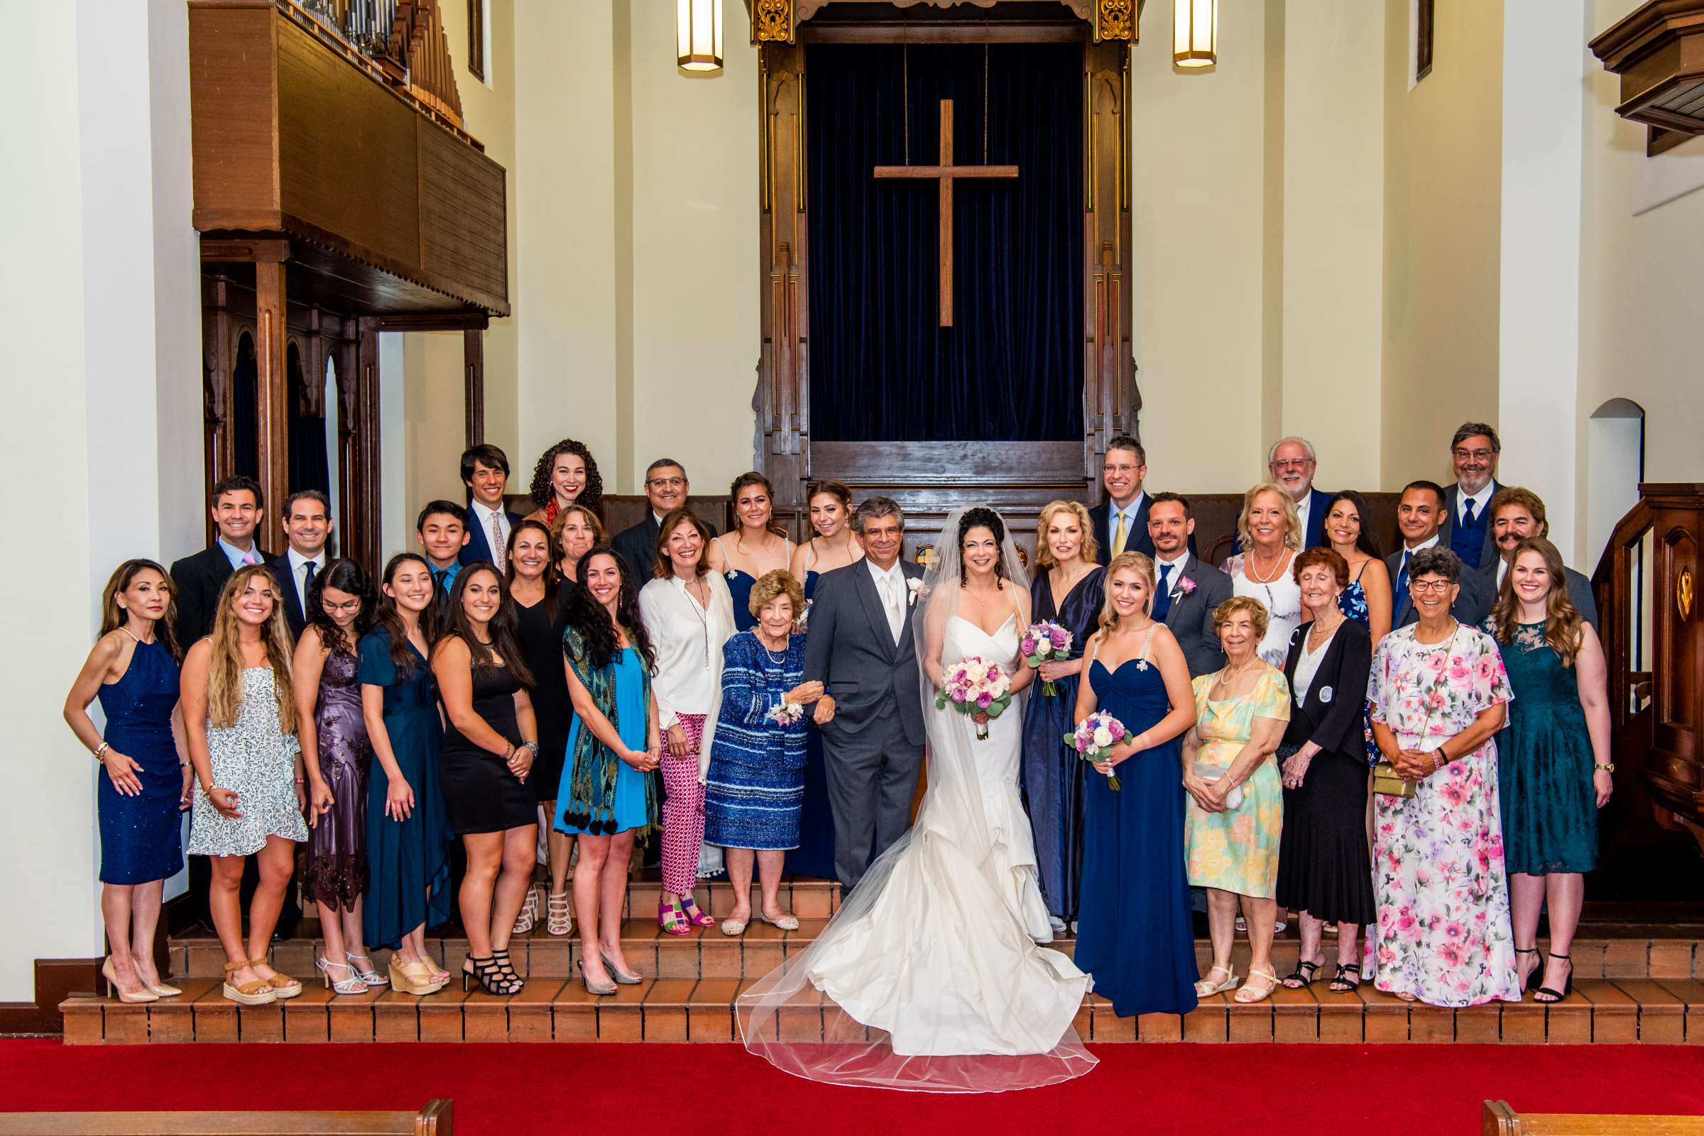
{"label": "shiny dark purple dress on third woman from left", "polygon": [[344,909],[366,891],[366,772],[373,761],[356,664],[356,656],[334,651],[320,671],[314,727],[320,777],[331,789],[332,806],[308,829],[302,863],[302,894]]}

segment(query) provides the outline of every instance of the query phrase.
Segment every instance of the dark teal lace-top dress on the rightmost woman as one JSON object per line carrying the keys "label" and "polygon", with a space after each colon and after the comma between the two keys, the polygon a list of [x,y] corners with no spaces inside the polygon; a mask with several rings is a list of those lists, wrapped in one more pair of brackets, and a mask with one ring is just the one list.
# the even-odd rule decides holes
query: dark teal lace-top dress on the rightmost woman
{"label": "dark teal lace-top dress on the rightmost woman", "polygon": [[1513,642],[1498,647],[1515,691],[1508,732],[1498,737],[1508,872],[1590,872],[1597,867],[1597,790],[1574,668],[1563,668],[1544,642],[1544,623],[1517,623]]}

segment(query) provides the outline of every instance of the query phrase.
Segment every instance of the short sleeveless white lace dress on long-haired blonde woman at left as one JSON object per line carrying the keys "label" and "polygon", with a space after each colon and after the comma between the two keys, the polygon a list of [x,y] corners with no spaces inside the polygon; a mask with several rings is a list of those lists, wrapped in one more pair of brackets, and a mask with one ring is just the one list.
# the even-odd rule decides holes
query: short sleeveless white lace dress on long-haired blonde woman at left
{"label": "short sleeveless white lace dress on long-haired blonde woman at left", "polygon": [[213,783],[237,794],[242,816],[220,816],[198,783],[189,814],[189,855],[247,857],[264,848],[268,836],[305,841],[308,826],[296,806],[300,749],[291,734],[278,729],[273,668],[247,668],[237,724],[228,729],[208,726]]}

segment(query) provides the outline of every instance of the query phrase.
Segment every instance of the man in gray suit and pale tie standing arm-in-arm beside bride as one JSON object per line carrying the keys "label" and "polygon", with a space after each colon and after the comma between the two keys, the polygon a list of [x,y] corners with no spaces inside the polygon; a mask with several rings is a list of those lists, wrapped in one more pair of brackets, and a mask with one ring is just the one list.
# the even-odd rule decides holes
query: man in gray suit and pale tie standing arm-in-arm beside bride
{"label": "man in gray suit and pale tie standing arm-in-arm beside bride", "polygon": [[816,581],[804,639],[804,681],[826,690],[815,715],[835,814],[835,875],[845,891],[912,826],[924,763],[910,584],[924,569],[900,557],[905,514],[888,497],[864,501],[852,528],[864,559]]}

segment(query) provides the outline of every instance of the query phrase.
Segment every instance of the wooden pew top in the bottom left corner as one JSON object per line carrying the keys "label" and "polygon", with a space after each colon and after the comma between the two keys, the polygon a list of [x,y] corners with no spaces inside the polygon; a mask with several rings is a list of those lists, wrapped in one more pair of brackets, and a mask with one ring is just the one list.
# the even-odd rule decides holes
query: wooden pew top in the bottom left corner
{"label": "wooden pew top in the bottom left corner", "polygon": [[450,1100],[419,1112],[0,1112],[0,1136],[455,1136]]}

